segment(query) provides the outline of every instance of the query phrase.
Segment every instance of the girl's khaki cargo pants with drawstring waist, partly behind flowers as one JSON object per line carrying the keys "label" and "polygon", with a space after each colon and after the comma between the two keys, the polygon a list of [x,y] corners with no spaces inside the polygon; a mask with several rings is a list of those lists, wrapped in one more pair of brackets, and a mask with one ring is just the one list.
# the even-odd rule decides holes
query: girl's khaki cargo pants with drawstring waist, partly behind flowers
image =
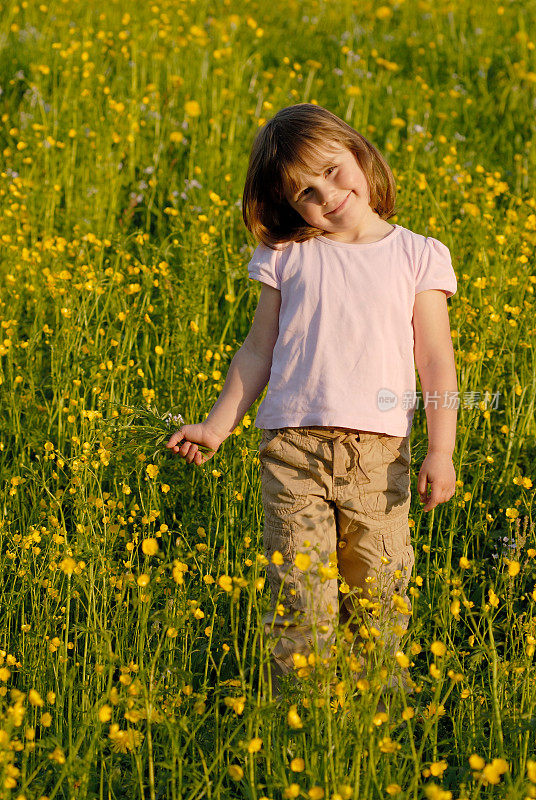
{"label": "girl's khaki cargo pants with drawstring waist, partly behind flowers", "polygon": [[[264,678],[274,695],[281,676],[296,675],[300,660],[294,654],[301,654],[302,666],[312,652],[330,657],[337,623],[351,632],[354,653],[374,640],[394,663],[411,616],[406,589],[415,563],[409,438],[329,427],[263,431],[259,460],[271,589],[263,619],[271,653]],[[404,676],[390,680],[387,688],[401,680],[411,691]]]}

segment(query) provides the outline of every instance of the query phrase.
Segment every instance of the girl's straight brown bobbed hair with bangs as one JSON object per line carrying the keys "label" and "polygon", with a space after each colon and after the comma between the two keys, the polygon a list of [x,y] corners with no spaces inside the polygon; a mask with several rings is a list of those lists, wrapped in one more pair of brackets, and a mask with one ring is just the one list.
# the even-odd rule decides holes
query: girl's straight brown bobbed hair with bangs
{"label": "girl's straight brown bobbed hair with bangs", "polygon": [[297,175],[330,145],[351,150],[370,189],[370,207],[382,219],[396,214],[396,184],[381,153],[331,111],[313,103],[282,108],[259,130],[253,142],[242,198],[242,216],[258,242],[276,249],[281,242],[305,242],[323,233],[308,225],[288,203]]}

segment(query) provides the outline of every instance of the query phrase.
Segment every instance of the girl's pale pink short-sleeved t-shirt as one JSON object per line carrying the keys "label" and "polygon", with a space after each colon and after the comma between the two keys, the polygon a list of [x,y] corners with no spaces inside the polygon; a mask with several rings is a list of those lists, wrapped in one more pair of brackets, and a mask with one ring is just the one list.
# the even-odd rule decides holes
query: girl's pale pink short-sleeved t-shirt
{"label": "girl's pale pink short-sleeved t-shirt", "polygon": [[426,289],[455,293],[448,248],[394,225],[368,244],[326,236],[277,251],[260,244],[248,274],[281,291],[279,335],[255,425],[407,436],[416,407],[413,304]]}

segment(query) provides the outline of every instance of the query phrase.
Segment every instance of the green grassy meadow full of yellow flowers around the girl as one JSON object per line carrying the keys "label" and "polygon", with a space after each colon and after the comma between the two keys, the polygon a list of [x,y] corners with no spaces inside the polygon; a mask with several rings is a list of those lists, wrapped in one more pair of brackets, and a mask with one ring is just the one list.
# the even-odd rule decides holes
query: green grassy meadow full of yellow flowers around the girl
{"label": "green grassy meadow full of yellow flowers around the girl", "polygon": [[[536,797],[534,17],[6,0],[2,799]],[[249,330],[247,158],[295,102],[378,146],[391,221],[443,241],[459,282],[457,492],[420,510],[418,408],[396,657],[415,690],[386,711],[373,609],[362,652],[340,630],[333,663],[295,659],[282,706],[263,686],[257,403],[202,467],[163,444],[204,419]]]}

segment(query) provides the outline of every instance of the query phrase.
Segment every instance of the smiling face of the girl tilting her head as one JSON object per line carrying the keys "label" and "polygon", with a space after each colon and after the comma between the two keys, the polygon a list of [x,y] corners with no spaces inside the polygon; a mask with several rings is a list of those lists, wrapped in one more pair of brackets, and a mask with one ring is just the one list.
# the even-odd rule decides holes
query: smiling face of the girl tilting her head
{"label": "smiling face of the girl tilting her head", "polygon": [[311,173],[299,175],[298,190],[287,192],[286,199],[305,222],[334,238],[344,239],[380,219],[369,206],[366,176],[343,145],[323,151]]}

